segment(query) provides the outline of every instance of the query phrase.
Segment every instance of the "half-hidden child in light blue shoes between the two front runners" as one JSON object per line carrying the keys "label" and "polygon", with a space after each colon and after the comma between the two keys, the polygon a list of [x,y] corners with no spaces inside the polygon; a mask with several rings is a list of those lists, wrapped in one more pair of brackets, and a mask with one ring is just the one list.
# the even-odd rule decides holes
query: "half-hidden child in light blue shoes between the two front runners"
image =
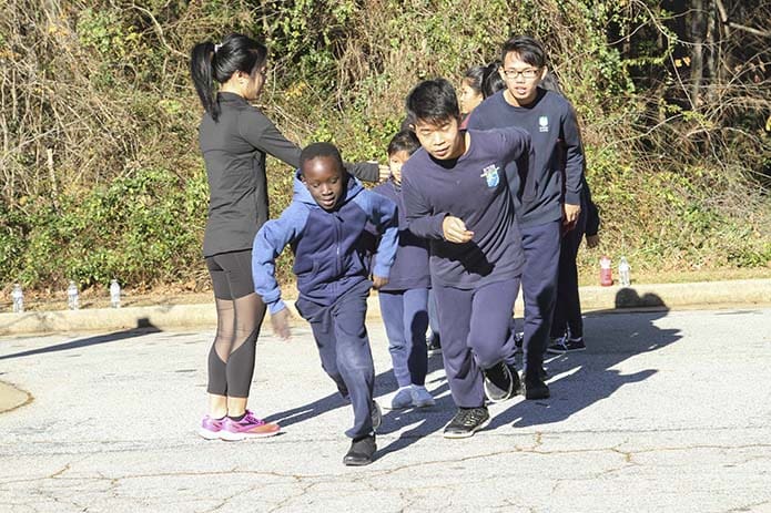
{"label": "half-hidden child in light blue shoes between the two front runners", "polygon": [[399,389],[390,401],[390,409],[423,408],[434,406],[434,398],[426,390],[428,356],[426,329],[428,328],[428,242],[413,235],[407,228],[407,217],[402,198],[402,165],[420,147],[410,131],[394,135],[388,144],[390,178],[378,185],[374,193],[387,197],[397,205],[399,244],[390,268],[388,284],[378,291],[381,316],[388,335],[388,351],[394,365],[394,376]]}

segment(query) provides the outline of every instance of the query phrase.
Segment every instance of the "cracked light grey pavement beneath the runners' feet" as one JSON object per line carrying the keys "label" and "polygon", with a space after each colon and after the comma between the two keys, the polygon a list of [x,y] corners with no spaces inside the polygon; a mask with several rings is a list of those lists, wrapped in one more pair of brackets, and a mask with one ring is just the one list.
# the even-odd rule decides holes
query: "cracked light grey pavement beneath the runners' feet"
{"label": "cracked light grey pavement beneath the runners' feet", "polygon": [[[591,315],[588,350],[547,359],[552,398],[490,407],[471,439],[440,358],[425,410],[384,410],[378,459],[346,468],[349,407],[306,326],[264,326],[250,407],[284,433],[195,435],[213,329],[0,339],[0,511],[771,512],[771,309]],[[368,325],[376,396],[394,391]]]}

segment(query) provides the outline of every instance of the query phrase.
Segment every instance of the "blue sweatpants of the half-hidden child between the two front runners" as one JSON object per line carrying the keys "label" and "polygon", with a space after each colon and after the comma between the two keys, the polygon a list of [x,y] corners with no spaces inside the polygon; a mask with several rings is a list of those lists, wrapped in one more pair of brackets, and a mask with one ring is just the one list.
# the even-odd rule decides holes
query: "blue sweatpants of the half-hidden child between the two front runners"
{"label": "blue sweatpants of the half-hidden child between the two front runners", "polygon": [[396,382],[399,388],[425,384],[428,371],[428,289],[381,290],[377,298]]}

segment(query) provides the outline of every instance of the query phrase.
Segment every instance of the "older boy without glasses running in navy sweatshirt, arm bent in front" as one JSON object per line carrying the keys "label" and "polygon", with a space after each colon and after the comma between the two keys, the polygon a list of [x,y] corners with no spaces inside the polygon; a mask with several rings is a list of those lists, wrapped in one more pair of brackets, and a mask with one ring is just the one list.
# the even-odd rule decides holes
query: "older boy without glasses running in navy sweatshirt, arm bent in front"
{"label": "older boy without glasses running in navy sweatshirt, arm bent in front", "polygon": [[423,147],[402,168],[402,194],[409,230],[430,243],[445,371],[458,407],[444,435],[466,438],[489,422],[485,394],[504,400],[519,389],[509,327],[525,263],[509,181],[527,171],[530,137],[519,129],[460,131],[457,96],[444,79],[416,85],[407,111]]}

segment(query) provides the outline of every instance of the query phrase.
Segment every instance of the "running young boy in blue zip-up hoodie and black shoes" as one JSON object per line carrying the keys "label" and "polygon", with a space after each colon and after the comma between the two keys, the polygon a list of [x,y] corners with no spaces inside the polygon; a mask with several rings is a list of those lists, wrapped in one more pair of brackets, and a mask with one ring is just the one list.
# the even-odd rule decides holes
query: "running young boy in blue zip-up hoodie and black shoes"
{"label": "running young boy in blue zip-up hoodie and black shoes", "polygon": [[[383,234],[372,281],[362,237],[367,223]],[[290,337],[290,314],[281,300],[275,260],[287,244],[292,247],[300,291],[295,307],[311,322],[322,368],[354,409],[346,465],[372,463],[377,449],[381,412],[373,401],[375,369],[364,318],[369,289],[388,283],[397,236],[396,205],[348,175],[334,145],[314,143],[301,153],[292,203],[254,238],[254,287],[281,338]]]}

